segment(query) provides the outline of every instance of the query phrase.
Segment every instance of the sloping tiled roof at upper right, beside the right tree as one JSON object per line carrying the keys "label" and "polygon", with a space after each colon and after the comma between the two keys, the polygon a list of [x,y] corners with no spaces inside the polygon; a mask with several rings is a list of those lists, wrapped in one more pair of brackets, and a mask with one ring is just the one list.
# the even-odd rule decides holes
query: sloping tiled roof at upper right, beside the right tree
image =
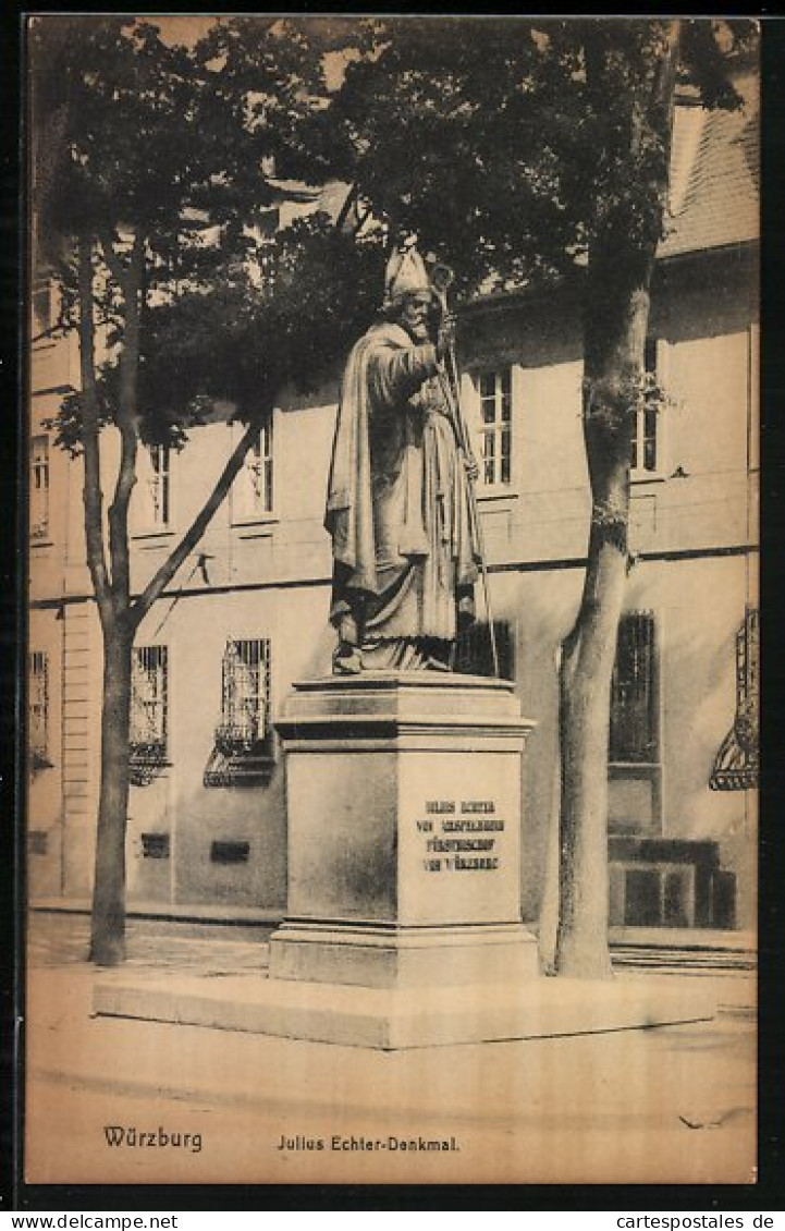
{"label": "sloping tiled roof at upper right, beside the right tree", "polygon": [[760,234],[759,103],[753,82],[739,91],[739,111],[677,108],[661,257],[743,244]]}

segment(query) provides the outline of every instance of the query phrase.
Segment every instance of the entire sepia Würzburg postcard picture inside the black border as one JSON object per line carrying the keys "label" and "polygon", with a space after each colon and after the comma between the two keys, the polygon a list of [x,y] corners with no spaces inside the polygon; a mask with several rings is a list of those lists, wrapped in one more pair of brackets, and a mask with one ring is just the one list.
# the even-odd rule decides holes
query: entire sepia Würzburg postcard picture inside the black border
{"label": "entire sepia W\u00fcrzburg postcard picture inside the black border", "polygon": [[26,17],[23,1183],[755,1183],[759,44]]}

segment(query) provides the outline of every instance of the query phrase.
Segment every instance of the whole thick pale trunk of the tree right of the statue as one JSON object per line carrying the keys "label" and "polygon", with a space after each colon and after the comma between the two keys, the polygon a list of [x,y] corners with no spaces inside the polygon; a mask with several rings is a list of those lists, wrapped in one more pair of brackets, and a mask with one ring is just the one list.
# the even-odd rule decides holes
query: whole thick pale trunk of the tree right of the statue
{"label": "whole thick pale trunk of the tree right of the statue", "polygon": [[[636,199],[623,185],[589,243],[583,320],[583,436],[592,490],[592,526],[583,595],[562,644],[559,672],[561,798],[556,972],[610,976],[608,947],[608,744],[610,682],[629,567],[630,454],[641,395],[650,287],[668,190],[673,100],[680,21],[669,21],[645,108],[632,108],[620,130],[629,146],[613,150],[640,166],[652,138],[659,162]],[[614,57],[594,44],[587,84],[597,103],[608,96]],[[624,135],[626,134],[626,135]],[[608,187],[607,185],[604,186]],[[640,186],[637,186],[640,187]],[[603,196],[602,174],[598,185]],[[621,190],[619,192],[618,190]],[[614,201],[615,196],[615,201]]]}

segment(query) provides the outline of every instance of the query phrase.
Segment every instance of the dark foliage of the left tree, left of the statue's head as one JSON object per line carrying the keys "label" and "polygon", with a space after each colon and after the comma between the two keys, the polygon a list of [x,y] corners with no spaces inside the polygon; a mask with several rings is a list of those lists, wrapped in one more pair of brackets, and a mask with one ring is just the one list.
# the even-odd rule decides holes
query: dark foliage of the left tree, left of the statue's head
{"label": "dark foliage of the left tree, left of the statue's head", "polygon": [[[267,222],[325,170],[313,134],[331,41],[281,18],[218,21],[192,44],[151,21],[33,20],[38,234],[63,327],[80,311],[73,241],[95,243],[103,423],[117,419],[134,239],[143,439],[182,444],[218,398],[239,417],[258,414],[282,384],[315,382],[367,323],[378,243],[354,244],[320,213],[272,234]],[[81,398],[65,400],[57,425],[71,451]]]}

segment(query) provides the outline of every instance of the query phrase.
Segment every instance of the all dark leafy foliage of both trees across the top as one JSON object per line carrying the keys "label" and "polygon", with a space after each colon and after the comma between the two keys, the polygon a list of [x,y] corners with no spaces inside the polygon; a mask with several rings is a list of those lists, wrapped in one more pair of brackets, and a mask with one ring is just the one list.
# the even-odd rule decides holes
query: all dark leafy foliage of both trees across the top
{"label": "all dark leafy foliage of both trees across the top", "polygon": [[[683,22],[682,74],[707,105],[738,105],[728,54],[753,33]],[[351,183],[464,292],[570,271],[620,225],[632,244],[658,238],[666,37],[661,20],[252,17],[188,44],[151,21],[33,20],[34,204],[47,239],[87,230],[100,245],[103,420],[133,234],[140,431],[175,444],[212,399],[247,417],[281,384],[314,383],[378,303],[384,234],[357,243],[320,214],[255,227],[298,183]],[[57,260],[73,323],[70,249]],[[76,394],[62,443],[79,444],[79,423]]]}

